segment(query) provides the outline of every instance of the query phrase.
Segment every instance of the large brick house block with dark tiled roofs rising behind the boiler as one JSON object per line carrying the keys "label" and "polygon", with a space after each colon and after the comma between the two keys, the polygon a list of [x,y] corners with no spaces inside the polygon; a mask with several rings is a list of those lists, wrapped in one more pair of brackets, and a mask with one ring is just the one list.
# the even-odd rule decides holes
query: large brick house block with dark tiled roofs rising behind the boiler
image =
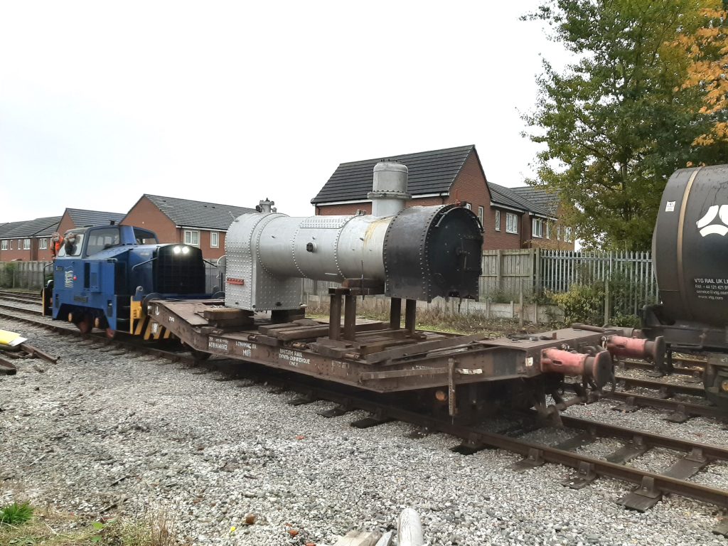
{"label": "large brick house block with dark tiled roofs rising behind the boiler", "polygon": [[[371,201],[366,195],[371,191],[374,165],[380,161],[397,161],[408,167],[408,192],[412,194],[408,206],[459,202],[476,213],[483,224],[483,250],[574,248],[573,240],[554,237],[556,232],[566,233],[556,215],[558,195],[542,197],[544,191],[530,186],[515,191],[488,183],[478,151],[472,145],[341,163],[311,200],[316,214],[348,215],[357,210],[371,213]],[[542,241],[548,244],[542,245]]]}

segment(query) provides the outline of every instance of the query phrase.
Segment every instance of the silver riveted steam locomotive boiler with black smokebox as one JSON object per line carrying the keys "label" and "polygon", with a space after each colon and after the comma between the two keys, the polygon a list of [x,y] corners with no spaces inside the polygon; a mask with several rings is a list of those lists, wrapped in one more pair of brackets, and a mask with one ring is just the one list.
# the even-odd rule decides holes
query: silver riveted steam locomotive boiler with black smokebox
{"label": "silver riveted steam locomotive boiler with black smokebox", "polygon": [[374,167],[371,215],[290,218],[261,202],[227,234],[226,306],[300,309],[300,278],[392,298],[477,298],[478,217],[456,205],[405,208],[406,189],[407,167],[385,162]]}

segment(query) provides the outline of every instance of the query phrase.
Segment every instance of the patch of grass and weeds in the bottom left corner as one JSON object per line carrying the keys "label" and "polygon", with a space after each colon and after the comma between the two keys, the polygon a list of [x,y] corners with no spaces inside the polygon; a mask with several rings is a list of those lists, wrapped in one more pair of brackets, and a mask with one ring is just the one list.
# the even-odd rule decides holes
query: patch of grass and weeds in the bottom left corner
{"label": "patch of grass and weeds in the bottom left corner", "polygon": [[175,521],[166,511],[141,518],[84,521],[50,508],[31,510],[23,523],[0,526],[2,546],[175,546]]}

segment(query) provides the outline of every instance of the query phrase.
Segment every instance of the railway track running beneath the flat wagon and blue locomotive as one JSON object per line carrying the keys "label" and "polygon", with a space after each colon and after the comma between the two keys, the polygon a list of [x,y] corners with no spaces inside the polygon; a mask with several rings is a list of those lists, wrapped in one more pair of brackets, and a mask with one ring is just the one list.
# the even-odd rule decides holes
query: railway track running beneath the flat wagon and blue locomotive
{"label": "railway track running beneath the flat wagon and blue locomotive", "polygon": [[[112,341],[106,339],[105,336],[83,336],[66,325],[62,326],[51,323],[50,320],[33,317],[32,313],[27,309],[15,309],[15,311],[15,314],[0,312],[0,317],[20,320],[63,335],[83,337],[84,341],[82,343],[90,349],[109,352],[112,355],[133,350],[175,362],[183,361],[193,365],[202,364],[213,369],[221,369],[221,366],[224,367],[226,363],[229,363],[229,361],[218,362],[217,360],[200,363],[194,357],[180,353],[153,347],[143,347],[128,341]],[[121,351],[121,353],[116,351]],[[248,367],[246,366],[246,368]],[[241,371],[240,366],[233,365],[228,368],[226,373],[237,379]],[[248,370],[245,373],[248,376]],[[545,463],[571,467],[576,472],[563,482],[565,486],[571,488],[585,487],[599,477],[615,478],[633,483],[637,487],[626,493],[619,503],[634,510],[648,510],[657,504],[665,494],[686,496],[728,508],[727,490],[704,486],[690,480],[697,472],[700,472],[709,464],[728,461],[728,449],[721,446],[697,443],[692,440],[680,440],[666,435],[618,427],[588,419],[577,419],[565,414],[561,416],[562,423],[574,435],[555,446],[548,446],[544,443],[519,437],[521,432],[531,432],[537,427],[533,419],[531,419],[530,423],[515,427],[515,434],[513,427],[510,430],[493,432],[484,430],[483,427],[478,425],[454,423],[448,416],[440,418],[420,414],[411,411],[409,408],[390,403],[383,397],[340,386],[332,387],[331,384],[323,381],[309,377],[301,378],[293,373],[280,373],[271,371],[268,368],[253,367],[253,375],[248,377],[252,377],[256,381],[265,381],[277,385],[281,390],[298,392],[299,396],[290,401],[293,405],[311,403],[316,400],[328,400],[337,404],[335,408],[321,412],[324,417],[341,416],[355,410],[363,410],[371,414],[368,418],[353,422],[352,425],[356,427],[372,427],[397,420],[413,424],[429,432],[443,432],[460,438],[463,443],[456,449],[461,453],[473,453],[483,448],[499,448],[521,454],[523,460],[515,465],[516,470],[539,467]],[[602,438],[620,440],[622,445],[604,459],[575,451]],[[627,464],[654,448],[668,449],[675,454],[674,464],[664,472],[649,472]],[[721,529],[716,529],[715,532],[720,533]]]}

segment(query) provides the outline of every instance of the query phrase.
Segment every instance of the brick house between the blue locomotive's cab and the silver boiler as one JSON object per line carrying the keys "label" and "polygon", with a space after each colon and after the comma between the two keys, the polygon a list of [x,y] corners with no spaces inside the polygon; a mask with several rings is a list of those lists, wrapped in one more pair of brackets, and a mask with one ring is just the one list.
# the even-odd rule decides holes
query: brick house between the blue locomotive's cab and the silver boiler
{"label": "brick house between the blue locomotive's cab and the silver boiler", "polygon": [[234,218],[253,212],[247,207],[143,194],[121,223],[151,229],[159,242],[197,246],[204,258],[215,259],[225,253],[225,234]]}

